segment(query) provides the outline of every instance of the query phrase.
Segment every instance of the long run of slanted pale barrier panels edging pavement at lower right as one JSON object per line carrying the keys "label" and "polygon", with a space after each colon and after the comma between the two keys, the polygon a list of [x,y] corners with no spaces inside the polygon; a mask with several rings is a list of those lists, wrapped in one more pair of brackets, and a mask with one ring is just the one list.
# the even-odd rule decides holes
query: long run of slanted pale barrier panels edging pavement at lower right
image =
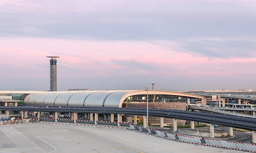
{"label": "long run of slanted pale barrier panels edging pavement at lower right", "polygon": [[165,138],[165,139],[174,140],[174,141],[178,141],[178,142],[199,144],[199,145],[203,145],[203,146],[211,146],[211,147],[218,147],[218,148],[227,148],[227,149],[231,149],[231,150],[256,152],[256,144],[231,142],[231,141],[226,141],[226,140],[218,140],[218,139],[193,137],[193,136],[188,136],[188,135],[172,134],[172,133],[166,133],[166,132],[158,131],[158,130],[154,130],[154,129],[146,129],[146,128],[135,126],[135,125],[130,125],[129,129],[133,130],[133,131],[138,131],[140,133],[154,135],[155,137]]}

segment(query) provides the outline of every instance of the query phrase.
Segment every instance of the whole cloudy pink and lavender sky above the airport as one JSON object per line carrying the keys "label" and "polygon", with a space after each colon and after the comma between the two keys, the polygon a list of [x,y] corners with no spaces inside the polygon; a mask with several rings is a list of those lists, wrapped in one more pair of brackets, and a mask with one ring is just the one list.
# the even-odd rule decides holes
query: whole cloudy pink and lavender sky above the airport
{"label": "whole cloudy pink and lavender sky above the airport", "polygon": [[0,90],[256,90],[255,0],[0,0]]}

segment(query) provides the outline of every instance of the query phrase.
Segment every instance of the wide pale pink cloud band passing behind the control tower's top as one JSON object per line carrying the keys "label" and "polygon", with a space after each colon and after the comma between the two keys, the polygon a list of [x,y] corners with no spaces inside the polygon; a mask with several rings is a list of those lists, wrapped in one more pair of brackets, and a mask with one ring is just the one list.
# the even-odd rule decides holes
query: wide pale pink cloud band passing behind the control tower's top
{"label": "wide pale pink cloud band passing behind the control tower's top", "polygon": [[69,68],[77,70],[79,73],[72,75],[78,76],[115,76],[134,73],[161,74],[166,77],[191,74],[232,75],[237,72],[255,74],[251,69],[256,64],[256,57],[209,59],[199,53],[179,52],[182,44],[180,46],[175,44],[166,49],[153,43],[135,41],[0,38],[0,42],[1,65],[36,69],[49,64],[46,56],[55,55],[61,56],[58,59],[58,67],[63,68],[63,74],[65,69]]}

